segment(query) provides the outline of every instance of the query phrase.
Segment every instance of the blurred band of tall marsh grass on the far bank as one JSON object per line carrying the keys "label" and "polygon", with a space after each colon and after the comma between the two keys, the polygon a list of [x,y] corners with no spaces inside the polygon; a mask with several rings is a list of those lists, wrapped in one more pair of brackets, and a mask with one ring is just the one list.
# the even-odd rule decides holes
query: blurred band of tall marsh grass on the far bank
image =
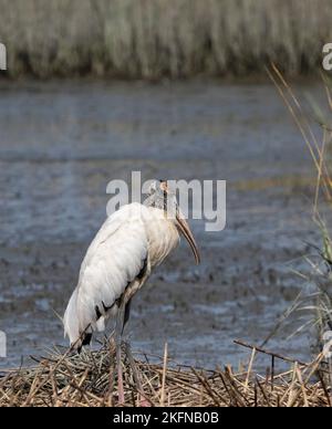
{"label": "blurred band of tall marsh grass on the far bank", "polygon": [[314,71],[331,0],[0,0],[8,75],[247,75]]}

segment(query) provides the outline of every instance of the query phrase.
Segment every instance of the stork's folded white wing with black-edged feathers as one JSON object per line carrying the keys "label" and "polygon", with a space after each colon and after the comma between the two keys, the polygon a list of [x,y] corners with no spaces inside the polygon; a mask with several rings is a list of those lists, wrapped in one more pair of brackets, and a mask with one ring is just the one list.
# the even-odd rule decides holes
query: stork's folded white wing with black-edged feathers
{"label": "stork's folded white wing with black-edged feathers", "polygon": [[98,317],[112,308],[146,263],[147,237],[143,217],[135,213],[135,207],[126,206],[110,217],[86,252],[77,287],[64,315],[71,343],[89,326],[95,329]]}

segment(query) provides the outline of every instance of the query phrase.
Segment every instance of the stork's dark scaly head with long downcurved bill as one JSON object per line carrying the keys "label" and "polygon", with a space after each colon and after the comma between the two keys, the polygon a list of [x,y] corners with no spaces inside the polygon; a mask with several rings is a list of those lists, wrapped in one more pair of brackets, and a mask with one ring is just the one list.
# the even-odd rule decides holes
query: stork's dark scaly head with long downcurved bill
{"label": "stork's dark scaly head with long downcurved bill", "polygon": [[188,241],[197,264],[200,262],[198,247],[196,244],[189,224],[183,216],[176,195],[169,189],[167,180],[155,180],[149,187],[149,197],[147,198],[147,206],[164,210],[167,218],[173,221],[180,233]]}

